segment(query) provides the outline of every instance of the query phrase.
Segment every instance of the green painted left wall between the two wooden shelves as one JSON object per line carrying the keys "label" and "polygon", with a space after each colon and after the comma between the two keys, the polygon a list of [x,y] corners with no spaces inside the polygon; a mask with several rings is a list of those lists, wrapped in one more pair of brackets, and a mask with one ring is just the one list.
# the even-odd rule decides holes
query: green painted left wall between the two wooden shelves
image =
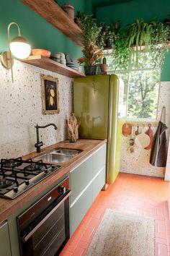
{"label": "green painted left wall between the two wooden shelves", "polygon": [[[81,11],[84,11],[84,1],[72,0],[70,2],[75,7],[75,10],[81,9]],[[61,1],[57,2],[58,4],[63,4]],[[22,35],[30,41],[32,48],[45,48],[53,54],[61,51],[71,56],[74,61],[81,56],[81,47],[73,43],[19,0],[1,0],[0,52],[8,50],[6,30],[9,23],[13,21],[19,23]],[[10,32],[11,37],[16,36],[16,27],[12,26]]]}

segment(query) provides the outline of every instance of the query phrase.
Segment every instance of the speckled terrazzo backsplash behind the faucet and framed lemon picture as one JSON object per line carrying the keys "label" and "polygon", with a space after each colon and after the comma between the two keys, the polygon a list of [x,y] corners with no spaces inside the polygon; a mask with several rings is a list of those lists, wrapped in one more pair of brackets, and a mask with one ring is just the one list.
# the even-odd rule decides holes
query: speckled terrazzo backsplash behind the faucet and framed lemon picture
{"label": "speckled terrazzo backsplash behind the faucet and framed lemon picture", "polygon": [[[61,74],[14,61],[11,70],[0,64],[0,158],[15,158],[35,151],[35,125],[54,123],[58,129],[40,129],[44,146],[68,137],[66,119],[73,108],[73,80]],[[59,114],[42,115],[40,74],[58,78]],[[41,138],[42,136],[42,138]],[[43,146],[43,147],[44,147]]]}

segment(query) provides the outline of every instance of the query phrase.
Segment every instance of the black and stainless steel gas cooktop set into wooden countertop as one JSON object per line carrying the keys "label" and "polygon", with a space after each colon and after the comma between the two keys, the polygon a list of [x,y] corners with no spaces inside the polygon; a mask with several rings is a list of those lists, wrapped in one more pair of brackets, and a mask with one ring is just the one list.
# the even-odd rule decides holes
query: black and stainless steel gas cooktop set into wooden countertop
{"label": "black and stainless steel gas cooktop set into wooden countertop", "polygon": [[14,199],[59,168],[61,166],[42,163],[42,160],[1,159],[0,197]]}

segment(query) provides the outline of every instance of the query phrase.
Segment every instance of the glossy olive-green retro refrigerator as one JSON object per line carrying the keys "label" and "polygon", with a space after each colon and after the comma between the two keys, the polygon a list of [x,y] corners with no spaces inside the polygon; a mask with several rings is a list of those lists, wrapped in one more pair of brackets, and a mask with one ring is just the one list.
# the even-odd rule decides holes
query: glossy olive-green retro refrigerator
{"label": "glossy olive-green retro refrigerator", "polygon": [[73,85],[73,109],[81,121],[79,137],[107,139],[107,184],[114,182],[120,171],[119,88],[115,74],[75,78]]}

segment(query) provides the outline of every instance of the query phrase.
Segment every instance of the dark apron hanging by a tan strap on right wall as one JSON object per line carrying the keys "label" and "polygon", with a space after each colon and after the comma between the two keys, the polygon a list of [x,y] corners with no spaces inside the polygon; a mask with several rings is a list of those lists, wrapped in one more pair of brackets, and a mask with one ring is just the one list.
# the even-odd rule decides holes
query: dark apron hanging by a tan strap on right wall
{"label": "dark apron hanging by a tan strap on right wall", "polygon": [[153,136],[153,144],[151,149],[150,163],[153,166],[165,167],[167,158],[166,145],[166,108],[163,107],[161,111],[161,118],[158,122],[156,133]]}

